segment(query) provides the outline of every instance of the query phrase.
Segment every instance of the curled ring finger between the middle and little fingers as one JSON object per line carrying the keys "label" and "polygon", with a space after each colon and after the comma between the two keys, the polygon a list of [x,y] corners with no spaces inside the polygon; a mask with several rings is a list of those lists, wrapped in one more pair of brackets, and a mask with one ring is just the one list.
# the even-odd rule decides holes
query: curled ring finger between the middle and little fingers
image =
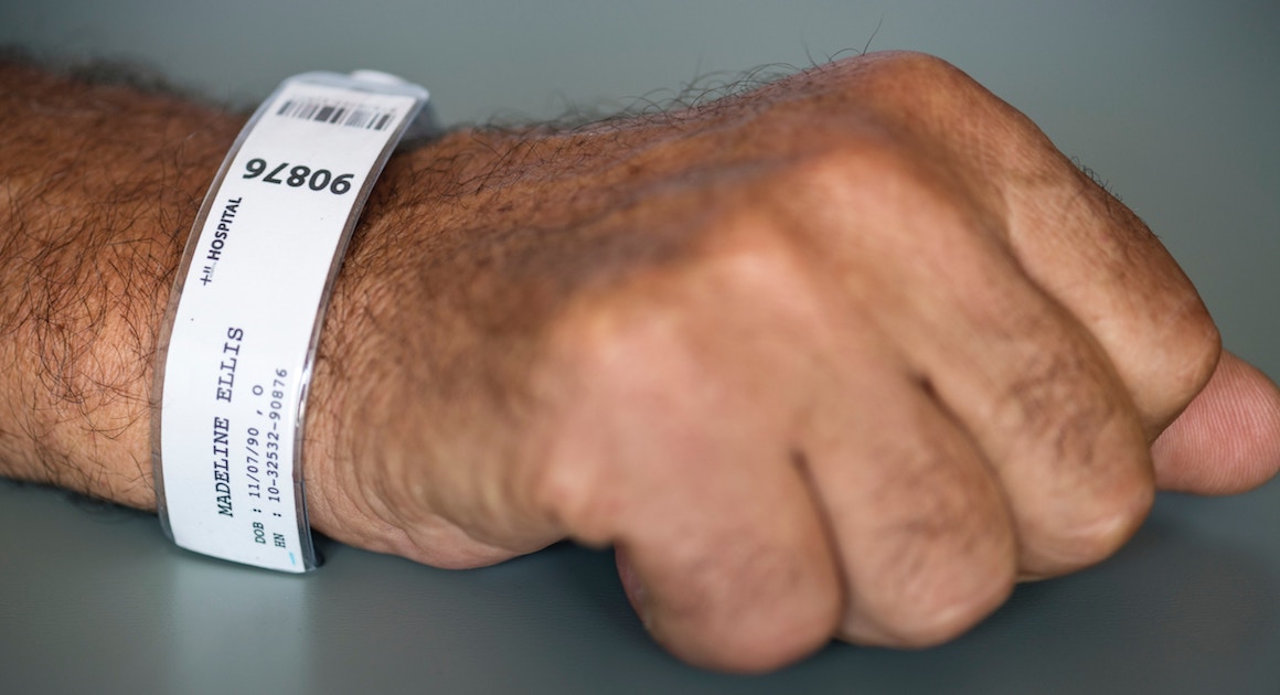
{"label": "curled ring finger between the middle and little fingers", "polygon": [[1012,587],[1004,494],[918,384],[847,356],[842,367],[827,370],[833,398],[797,459],[838,547],[849,593],[840,635],[899,648],[952,639]]}

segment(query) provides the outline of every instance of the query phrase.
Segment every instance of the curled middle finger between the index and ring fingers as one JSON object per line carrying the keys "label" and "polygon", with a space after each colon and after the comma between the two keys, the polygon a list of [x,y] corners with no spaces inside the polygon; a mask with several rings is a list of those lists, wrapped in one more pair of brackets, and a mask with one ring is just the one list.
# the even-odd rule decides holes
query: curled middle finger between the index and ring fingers
{"label": "curled middle finger between the index and ring fingers", "polygon": [[1047,298],[1028,291],[1019,303],[1002,311],[1016,339],[952,348],[927,374],[1000,476],[1023,572],[1051,576],[1128,540],[1153,481],[1146,435],[1106,356]]}

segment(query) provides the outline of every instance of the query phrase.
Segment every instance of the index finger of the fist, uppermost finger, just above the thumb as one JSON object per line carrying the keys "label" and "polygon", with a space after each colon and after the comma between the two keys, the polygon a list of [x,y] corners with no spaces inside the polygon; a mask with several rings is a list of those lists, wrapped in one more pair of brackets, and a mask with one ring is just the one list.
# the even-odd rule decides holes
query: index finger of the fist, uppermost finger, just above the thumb
{"label": "index finger of the fist, uppermost finger, just above the thumb", "polygon": [[[1208,380],[1219,353],[1204,306],[1158,239],[1030,119],[945,61],[882,55],[859,70],[855,84],[870,91],[864,101],[905,125],[910,146],[925,147],[925,161],[943,172],[946,180],[932,184],[983,205],[977,233],[998,237],[1102,346],[1155,440]],[[922,88],[895,87],[904,83]],[[956,128],[955,114],[975,118]],[[940,241],[927,228],[916,237]]]}

